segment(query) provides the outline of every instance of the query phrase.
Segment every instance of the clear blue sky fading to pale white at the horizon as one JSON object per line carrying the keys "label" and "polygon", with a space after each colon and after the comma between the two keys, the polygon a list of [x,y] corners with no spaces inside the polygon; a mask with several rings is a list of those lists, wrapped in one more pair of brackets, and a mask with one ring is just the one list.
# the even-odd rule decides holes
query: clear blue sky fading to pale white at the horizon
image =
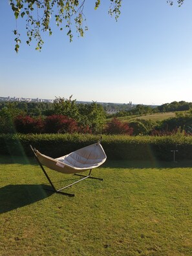
{"label": "clear blue sky fading to pale white at the horizon", "polygon": [[[85,37],[72,43],[53,27],[41,52],[25,44],[14,51],[16,21],[8,0],[0,1],[0,96],[69,98],[81,101],[161,105],[192,101],[192,1],[180,8],[166,0],[123,0],[118,22],[109,1],[85,3]],[[25,20],[25,19],[24,19]]]}

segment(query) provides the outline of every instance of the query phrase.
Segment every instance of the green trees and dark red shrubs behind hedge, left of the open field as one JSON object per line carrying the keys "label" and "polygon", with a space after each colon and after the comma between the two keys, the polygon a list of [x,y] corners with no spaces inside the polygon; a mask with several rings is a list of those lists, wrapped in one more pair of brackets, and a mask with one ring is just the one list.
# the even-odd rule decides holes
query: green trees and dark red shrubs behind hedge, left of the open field
{"label": "green trees and dark red shrubs behind hedge, left of the open field", "polygon": [[[105,111],[96,102],[77,104],[76,100],[56,98],[54,103],[1,104],[0,133],[101,133]],[[65,126],[65,129],[62,128]],[[52,128],[51,128],[52,127]],[[55,129],[53,129],[55,127]]]}

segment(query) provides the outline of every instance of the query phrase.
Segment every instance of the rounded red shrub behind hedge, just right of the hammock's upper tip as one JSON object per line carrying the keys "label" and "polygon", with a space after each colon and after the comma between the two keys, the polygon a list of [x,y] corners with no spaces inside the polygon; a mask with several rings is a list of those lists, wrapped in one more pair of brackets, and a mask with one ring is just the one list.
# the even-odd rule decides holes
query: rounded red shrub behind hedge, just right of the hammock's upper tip
{"label": "rounded red shrub behind hedge, just right of the hammock's upper tip", "polygon": [[133,128],[129,127],[128,123],[123,123],[117,118],[113,118],[111,122],[107,123],[107,127],[105,127],[105,133],[132,135]]}

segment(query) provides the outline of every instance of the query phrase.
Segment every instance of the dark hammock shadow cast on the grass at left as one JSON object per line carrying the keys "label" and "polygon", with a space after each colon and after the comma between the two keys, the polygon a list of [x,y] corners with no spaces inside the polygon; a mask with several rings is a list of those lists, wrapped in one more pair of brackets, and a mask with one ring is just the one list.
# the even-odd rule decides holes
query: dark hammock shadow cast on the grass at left
{"label": "dark hammock shadow cast on the grass at left", "polygon": [[8,185],[0,187],[0,213],[21,208],[52,195],[45,185]]}

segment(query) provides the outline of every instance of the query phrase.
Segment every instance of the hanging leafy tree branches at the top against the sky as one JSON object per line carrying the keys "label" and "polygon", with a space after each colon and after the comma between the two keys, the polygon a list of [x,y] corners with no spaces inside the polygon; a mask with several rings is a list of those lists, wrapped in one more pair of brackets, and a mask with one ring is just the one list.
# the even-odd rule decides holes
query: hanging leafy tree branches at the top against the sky
{"label": "hanging leafy tree branches at the top against the sky", "polygon": [[[109,0],[109,14],[118,19],[123,0]],[[176,1],[176,0],[175,0]],[[174,1],[168,0],[169,5]],[[94,0],[94,8],[100,6],[101,0]],[[177,0],[178,6],[184,3],[184,0]],[[83,12],[85,0],[10,0],[10,6],[14,12],[16,20],[25,18],[27,30],[27,44],[30,45],[32,39],[36,39],[36,50],[41,50],[43,39],[41,31],[52,35],[51,17],[54,17],[56,25],[60,30],[66,29],[67,36],[72,41],[74,25],[79,36],[83,37],[87,26],[83,25],[86,20]],[[16,52],[21,44],[20,33],[17,28],[14,30],[16,35]]]}

